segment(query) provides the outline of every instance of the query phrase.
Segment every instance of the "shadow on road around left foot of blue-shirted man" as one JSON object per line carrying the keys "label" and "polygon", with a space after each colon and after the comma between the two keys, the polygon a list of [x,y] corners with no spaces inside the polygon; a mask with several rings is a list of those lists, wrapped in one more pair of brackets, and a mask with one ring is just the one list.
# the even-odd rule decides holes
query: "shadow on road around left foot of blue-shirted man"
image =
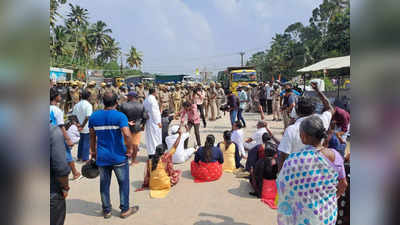
{"label": "shadow on road around left foot of blue-shirted man", "polygon": [[[67,214],[83,214],[103,217],[100,203],[88,202],[82,199],[67,199]],[[119,216],[120,212],[112,209],[112,215]]]}

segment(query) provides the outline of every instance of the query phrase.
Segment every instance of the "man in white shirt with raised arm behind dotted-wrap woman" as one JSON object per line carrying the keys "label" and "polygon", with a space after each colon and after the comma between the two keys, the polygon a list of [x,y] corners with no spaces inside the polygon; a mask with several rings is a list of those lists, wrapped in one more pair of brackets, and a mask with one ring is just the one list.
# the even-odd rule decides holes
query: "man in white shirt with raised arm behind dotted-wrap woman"
{"label": "man in white shirt with raised arm behind dotted-wrap woman", "polygon": [[328,130],[329,128],[329,124],[335,109],[329,103],[328,98],[319,91],[318,86],[315,83],[311,83],[311,86],[317,92],[318,97],[322,101],[324,105],[324,111],[322,114],[315,114],[315,104],[312,98],[302,97],[299,99],[296,105],[296,114],[298,119],[294,124],[286,128],[282,140],[278,146],[278,150],[281,153],[279,154],[279,169],[282,168],[283,162],[291,153],[299,152],[306,147],[300,138],[300,123],[305,118],[311,115],[317,115],[324,123],[325,129]]}

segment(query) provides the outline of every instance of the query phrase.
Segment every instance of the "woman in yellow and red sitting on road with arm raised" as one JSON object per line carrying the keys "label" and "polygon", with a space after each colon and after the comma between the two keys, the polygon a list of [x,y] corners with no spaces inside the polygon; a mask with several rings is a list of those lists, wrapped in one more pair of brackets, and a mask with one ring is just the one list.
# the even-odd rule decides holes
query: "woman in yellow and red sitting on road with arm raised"
{"label": "woman in yellow and red sitting on road with arm raised", "polygon": [[156,147],[156,154],[148,161],[146,176],[143,187],[150,187],[150,196],[152,198],[164,198],[170,191],[171,186],[176,185],[181,175],[180,170],[174,170],[172,155],[179,145],[182,136],[182,130],[178,131],[179,136],[167,153],[167,146],[164,144]]}

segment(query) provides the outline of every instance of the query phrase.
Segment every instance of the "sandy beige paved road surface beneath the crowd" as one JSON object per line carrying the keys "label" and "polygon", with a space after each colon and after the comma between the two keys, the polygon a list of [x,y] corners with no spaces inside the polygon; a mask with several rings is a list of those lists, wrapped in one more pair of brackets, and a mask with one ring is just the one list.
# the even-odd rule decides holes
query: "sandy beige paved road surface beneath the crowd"
{"label": "sandy beige paved road surface beneath the crowd", "polygon": [[[251,136],[256,130],[258,114],[245,113],[247,121],[245,137]],[[269,128],[280,138],[282,122],[271,122],[268,116]],[[174,121],[178,123],[177,121]],[[174,123],[173,122],[173,123]],[[208,122],[207,128],[201,128],[202,143],[208,134],[214,134],[217,141],[222,141],[224,130],[230,129],[229,115],[215,122]],[[144,135],[143,135],[144,136]],[[190,143],[193,145],[192,129]],[[144,139],[142,139],[144,143]],[[76,155],[76,151],[73,152]],[[247,180],[235,178],[225,173],[220,180],[211,183],[197,184],[190,175],[190,161],[176,165],[182,170],[182,178],[164,199],[151,199],[148,191],[133,192],[140,188],[144,176],[146,153],[142,149],[140,163],[131,167],[130,202],[140,206],[137,214],[127,218],[119,218],[118,184],[113,175],[111,183],[111,203],[113,217],[105,220],[101,215],[99,178],[94,180],[81,179],[72,181],[71,191],[67,200],[66,225],[101,225],[101,224],[140,224],[140,225],[275,225],[276,210],[270,209],[259,199],[248,193],[251,187]],[[193,159],[193,157],[192,157]],[[242,162],[244,163],[244,162]],[[82,164],[77,164],[80,169]]]}

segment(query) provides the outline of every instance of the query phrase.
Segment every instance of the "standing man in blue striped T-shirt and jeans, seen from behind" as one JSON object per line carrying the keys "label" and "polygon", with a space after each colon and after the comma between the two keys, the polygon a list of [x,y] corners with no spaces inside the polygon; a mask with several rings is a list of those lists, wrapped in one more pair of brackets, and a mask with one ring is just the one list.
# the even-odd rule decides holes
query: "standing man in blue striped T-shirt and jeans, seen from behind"
{"label": "standing man in blue striped T-shirt and jeans, seen from behind", "polygon": [[100,171],[100,195],[105,219],[111,217],[110,183],[112,171],[117,176],[120,194],[121,218],[139,210],[129,207],[129,163],[132,155],[131,132],[127,117],[116,110],[118,96],[106,92],[104,110],[98,110],[89,119],[90,150]]}

